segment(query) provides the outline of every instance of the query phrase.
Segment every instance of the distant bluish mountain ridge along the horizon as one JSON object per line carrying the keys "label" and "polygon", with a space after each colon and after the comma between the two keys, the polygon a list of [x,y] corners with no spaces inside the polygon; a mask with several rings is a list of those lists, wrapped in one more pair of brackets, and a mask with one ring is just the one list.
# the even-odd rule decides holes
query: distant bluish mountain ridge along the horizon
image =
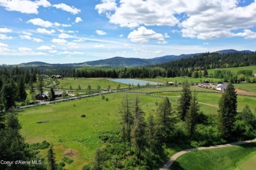
{"label": "distant bluish mountain ridge along the horizon", "polygon": [[[219,54],[228,54],[228,53],[251,53],[250,50],[220,50],[217,51]],[[142,59],[142,58],[122,58],[122,57],[114,57],[114,58],[108,58],[108,59],[99,59],[95,61],[86,61],[83,63],[45,63],[41,61],[33,61],[29,63],[21,63],[20,66],[67,66],[67,67],[138,67],[138,66],[146,66],[146,65],[155,65],[158,63],[166,63],[169,61],[174,61],[177,59],[182,58],[191,58],[194,56],[198,56],[203,53],[196,53],[196,54],[181,54],[179,56],[176,55],[168,55],[168,56],[162,56],[158,58],[151,58],[151,59]]]}

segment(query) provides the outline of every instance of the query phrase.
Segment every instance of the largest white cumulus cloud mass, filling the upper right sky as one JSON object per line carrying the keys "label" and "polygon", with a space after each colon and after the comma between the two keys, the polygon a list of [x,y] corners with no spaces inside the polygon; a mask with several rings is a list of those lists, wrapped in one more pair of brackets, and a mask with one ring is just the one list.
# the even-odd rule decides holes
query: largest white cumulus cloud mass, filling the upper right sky
{"label": "largest white cumulus cloud mass, filling the upper right sky", "polygon": [[[110,7],[111,0],[102,0],[95,6],[100,14],[106,14],[109,22],[121,27],[142,25],[179,26],[182,37],[217,39],[241,36],[253,39],[249,30],[256,26],[256,2],[240,5],[238,0],[120,0]],[[154,20],[152,20],[154,18]],[[165,37],[167,38],[167,37]]]}

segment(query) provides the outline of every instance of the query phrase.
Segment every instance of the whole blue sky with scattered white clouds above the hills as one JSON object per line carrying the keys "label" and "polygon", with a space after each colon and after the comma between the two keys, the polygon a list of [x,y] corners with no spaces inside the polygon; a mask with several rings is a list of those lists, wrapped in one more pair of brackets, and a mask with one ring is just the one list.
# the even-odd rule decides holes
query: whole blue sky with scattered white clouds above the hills
{"label": "whole blue sky with scattered white clouds above the hills", "polygon": [[0,0],[0,64],[256,50],[256,2]]}

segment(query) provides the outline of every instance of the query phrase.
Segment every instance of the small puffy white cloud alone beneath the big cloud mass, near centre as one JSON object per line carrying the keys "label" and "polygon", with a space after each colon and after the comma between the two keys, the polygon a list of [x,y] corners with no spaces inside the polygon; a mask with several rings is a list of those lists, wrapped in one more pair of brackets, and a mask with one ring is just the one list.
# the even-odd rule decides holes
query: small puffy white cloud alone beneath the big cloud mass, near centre
{"label": "small puffy white cloud alone beneath the big cloud mass, near centre", "polygon": [[148,42],[150,40],[164,41],[161,33],[156,33],[152,29],[146,29],[146,27],[139,27],[138,31],[132,31],[129,33],[128,39],[132,42]]}

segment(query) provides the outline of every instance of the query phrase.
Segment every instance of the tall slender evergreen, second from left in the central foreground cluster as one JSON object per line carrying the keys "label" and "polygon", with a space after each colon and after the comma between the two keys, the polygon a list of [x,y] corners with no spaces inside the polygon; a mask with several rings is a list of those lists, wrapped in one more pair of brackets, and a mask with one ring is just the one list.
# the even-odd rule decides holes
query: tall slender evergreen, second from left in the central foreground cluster
{"label": "tall slender evergreen, second from left in the central foreground cluster", "polygon": [[141,152],[144,150],[146,146],[146,122],[144,120],[144,112],[140,108],[139,105],[139,98],[138,96],[135,99],[135,120],[134,120],[134,126],[131,132],[132,136],[132,143],[135,146],[135,152],[137,155],[137,159],[139,160],[140,165],[140,159],[141,159]]}

